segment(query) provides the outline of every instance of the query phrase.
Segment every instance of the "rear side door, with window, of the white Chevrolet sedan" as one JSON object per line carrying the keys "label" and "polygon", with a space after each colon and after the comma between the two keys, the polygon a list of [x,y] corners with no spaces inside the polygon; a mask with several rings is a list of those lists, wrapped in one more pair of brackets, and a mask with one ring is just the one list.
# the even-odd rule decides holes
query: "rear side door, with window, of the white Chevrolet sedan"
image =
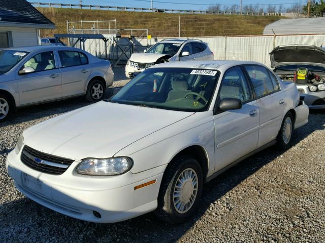
{"label": "rear side door, with window, of the white Chevrolet sedan", "polygon": [[246,65],[245,69],[259,107],[258,147],[261,147],[277,137],[285,111],[285,101],[277,78],[270,70],[259,65]]}

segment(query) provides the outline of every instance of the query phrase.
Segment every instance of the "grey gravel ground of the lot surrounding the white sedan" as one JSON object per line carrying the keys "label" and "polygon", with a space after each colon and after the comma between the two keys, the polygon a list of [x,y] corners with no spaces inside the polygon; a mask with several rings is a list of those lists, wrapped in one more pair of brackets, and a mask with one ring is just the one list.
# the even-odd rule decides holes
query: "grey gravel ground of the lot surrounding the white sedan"
{"label": "grey gravel ground of the lot surrounding the white sedan", "polygon": [[[125,79],[116,75],[114,87]],[[325,242],[323,111],[311,113],[309,124],[296,130],[289,150],[271,147],[206,184],[199,212],[182,225],[160,222],[152,213],[94,224],[24,197],[5,168],[19,135],[88,104],[76,98],[27,107],[0,125],[0,242]]]}

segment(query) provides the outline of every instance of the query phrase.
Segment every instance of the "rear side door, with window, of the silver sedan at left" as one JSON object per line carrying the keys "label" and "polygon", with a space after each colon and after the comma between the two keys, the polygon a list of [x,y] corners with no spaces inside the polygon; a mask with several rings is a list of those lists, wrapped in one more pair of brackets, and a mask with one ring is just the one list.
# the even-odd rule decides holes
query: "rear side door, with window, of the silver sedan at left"
{"label": "rear side door, with window, of the silver sedan at left", "polygon": [[78,51],[58,51],[61,74],[62,96],[74,96],[85,93],[85,87],[91,73],[87,56]]}

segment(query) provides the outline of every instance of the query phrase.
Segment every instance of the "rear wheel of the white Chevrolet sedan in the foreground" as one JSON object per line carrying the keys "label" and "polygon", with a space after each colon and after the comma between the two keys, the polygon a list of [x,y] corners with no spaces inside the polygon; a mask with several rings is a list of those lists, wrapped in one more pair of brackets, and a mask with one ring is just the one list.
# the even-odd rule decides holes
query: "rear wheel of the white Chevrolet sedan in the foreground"
{"label": "rear wheel of the white Chevrolet sedan in the foreground", "polygon": [[281,150],[286,150],[291,146],[294,136],[294,116],[291,112],[286,113],[283,118],[281,128],[277,137],[277,145]]}

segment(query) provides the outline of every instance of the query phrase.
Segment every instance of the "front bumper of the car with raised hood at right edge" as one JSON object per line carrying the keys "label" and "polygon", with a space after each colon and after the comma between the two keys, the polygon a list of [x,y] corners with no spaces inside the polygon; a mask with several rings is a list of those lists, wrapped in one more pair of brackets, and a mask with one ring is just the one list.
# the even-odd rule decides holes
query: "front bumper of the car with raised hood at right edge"
{"label": "front bumper of the car with raised hood at right edge", "polygon": [[311,92],[307,85],[296,85],[303,100],[309,109],[325,109],[325,91]]}

